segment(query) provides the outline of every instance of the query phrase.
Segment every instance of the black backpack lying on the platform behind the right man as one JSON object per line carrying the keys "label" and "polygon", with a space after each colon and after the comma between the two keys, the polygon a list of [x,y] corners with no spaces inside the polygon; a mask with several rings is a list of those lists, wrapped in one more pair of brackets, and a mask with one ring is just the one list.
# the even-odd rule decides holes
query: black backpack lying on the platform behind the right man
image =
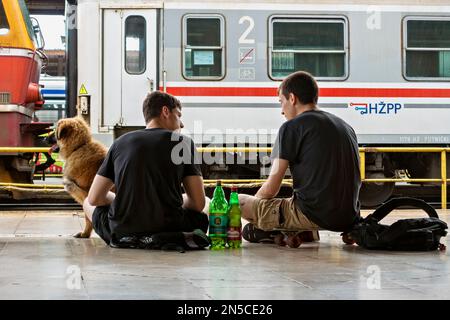
{"label": "black backpack lying on the platform behind the right man", "polygon": [[[402,219],[387,226],[379,222],[392,210],[412,206],[424,210],[428,218]],[[447,234],[447,224],[425,201],[415,198],[394,198],[356,223],[350,232],[342,234],[347,244],[357,243],[366,249],[428,251],[445,250],[440,243]]]}

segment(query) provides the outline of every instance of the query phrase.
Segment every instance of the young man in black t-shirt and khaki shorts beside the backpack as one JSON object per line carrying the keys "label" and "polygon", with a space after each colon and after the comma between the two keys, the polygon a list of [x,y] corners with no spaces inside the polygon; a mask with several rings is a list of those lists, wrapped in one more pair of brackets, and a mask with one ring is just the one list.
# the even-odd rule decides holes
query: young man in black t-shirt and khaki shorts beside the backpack
{"label": "young man in black t-shirt and khaki shorts beside the backpack", "polygon": [[[268,180],[255,197],[240,195],[242,216],[251,223],[244,238],[260,229],[347,231],[359,219],[356,134],[345,121],[317,107],[319,89],[309,73],[291,74],[278,93],[287,121],[272,151]],[[288,167],[293,196],[275,198]]]}

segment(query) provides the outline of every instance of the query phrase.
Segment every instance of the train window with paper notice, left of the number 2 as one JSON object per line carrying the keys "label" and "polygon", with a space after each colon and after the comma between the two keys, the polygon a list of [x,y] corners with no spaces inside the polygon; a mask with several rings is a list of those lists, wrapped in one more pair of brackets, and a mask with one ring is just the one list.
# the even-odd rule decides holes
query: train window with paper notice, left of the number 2
{"label": "train window with paper notice, left of the number 2", "polygon": [[215,79],[224,76],[224,20],[220,15],[186,15],[183,18],[183,76]]}

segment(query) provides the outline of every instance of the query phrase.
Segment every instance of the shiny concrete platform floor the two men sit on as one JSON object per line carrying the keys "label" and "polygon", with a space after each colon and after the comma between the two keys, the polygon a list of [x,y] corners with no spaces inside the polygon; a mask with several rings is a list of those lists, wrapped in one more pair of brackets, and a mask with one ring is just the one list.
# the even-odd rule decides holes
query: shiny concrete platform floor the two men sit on
{"label": "shiny concrete platform floor the two men sit on", "polygon": [[[396,211],[383,223],[419,216]],[[298,249],[112,249],[96,235],[72,238],[83,223],[79,211],[0,212],[0,299],[450,298],[448,251],[368,251],[326,231]]]}

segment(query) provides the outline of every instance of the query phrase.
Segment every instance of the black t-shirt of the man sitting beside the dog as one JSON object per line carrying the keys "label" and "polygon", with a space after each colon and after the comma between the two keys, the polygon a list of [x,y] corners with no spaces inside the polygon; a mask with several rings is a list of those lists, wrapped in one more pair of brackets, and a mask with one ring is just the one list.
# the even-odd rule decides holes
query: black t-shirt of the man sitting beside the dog
{"label": "black t-shirt of the man sitting beside the dog", "polygon": [[116,198],[109,209],[117,237],[181,231],[181,183],[201,175],[191,139],[165,129],[143,129],[118,138],[98,174],[111,179]]}

